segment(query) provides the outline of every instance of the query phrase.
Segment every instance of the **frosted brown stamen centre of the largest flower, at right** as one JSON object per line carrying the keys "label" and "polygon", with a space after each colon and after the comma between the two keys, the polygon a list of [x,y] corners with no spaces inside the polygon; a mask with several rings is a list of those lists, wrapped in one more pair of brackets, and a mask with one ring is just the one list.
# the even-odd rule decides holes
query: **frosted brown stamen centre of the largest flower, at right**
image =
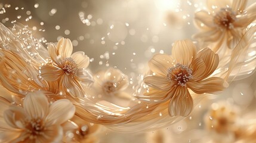
{"label": "frosted brown stamen centre of the largest flower, at right", "polygon": [[169,68],[166,77],[169,82],[175,83],[174,86],[186,86],[186,82],[193,79],[192,70],[182,64]]}

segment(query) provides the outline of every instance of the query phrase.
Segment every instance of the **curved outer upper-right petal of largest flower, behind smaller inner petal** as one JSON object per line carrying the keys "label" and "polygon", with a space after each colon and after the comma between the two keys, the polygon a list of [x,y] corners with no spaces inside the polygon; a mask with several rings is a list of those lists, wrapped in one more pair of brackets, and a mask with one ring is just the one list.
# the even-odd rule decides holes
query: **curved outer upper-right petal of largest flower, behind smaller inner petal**
{"label": "curved outer upper-right petal of largest flower, behind smaller inner petal", "polygon": [[205,74],[201,76],[200,79],[205,79],[213,73],[213,71],[218,67],[218,54],[215,54],[211,49],[204,48],[198,53],[198,58],[202,58],[203,63],[205,63],[206,70]]}

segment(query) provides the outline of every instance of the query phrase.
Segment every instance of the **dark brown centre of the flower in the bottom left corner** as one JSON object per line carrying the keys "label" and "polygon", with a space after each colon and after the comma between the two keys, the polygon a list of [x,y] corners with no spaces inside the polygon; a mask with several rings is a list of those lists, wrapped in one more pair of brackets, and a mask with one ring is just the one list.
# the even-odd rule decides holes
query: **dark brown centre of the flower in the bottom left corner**
{"label": "dark brown centre of the flower in the bottom left corner", "polygon": [[36,138],[38,135],[42,135],[44,131],[44,123],[41,119],[32,119],[25,122],[27,132],[29,132],[30,139]]}

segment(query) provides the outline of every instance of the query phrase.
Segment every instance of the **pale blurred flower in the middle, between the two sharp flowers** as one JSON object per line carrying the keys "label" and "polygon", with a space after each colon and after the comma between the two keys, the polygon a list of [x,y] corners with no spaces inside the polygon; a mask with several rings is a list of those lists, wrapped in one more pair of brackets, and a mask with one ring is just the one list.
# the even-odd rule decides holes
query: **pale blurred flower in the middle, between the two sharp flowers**
{"label": "pale blurred flower in the middle, between the two sharp flowers", "polygon": [[125,92],[128,87],[128,77],[122,71],[114,68],[109,68],[106,71],[100,71],[94,76],[94,88],[100,91],[103,97],[121,97],[131,98]]}

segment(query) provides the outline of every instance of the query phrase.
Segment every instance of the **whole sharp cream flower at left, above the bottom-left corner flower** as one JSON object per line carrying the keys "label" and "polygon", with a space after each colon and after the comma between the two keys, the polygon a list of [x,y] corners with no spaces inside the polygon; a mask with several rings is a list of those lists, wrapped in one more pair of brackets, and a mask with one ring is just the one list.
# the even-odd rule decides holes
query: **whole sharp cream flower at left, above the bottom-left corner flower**
{"label": "whole sharp cream flower at left, above the bottom-left corner flower", "polygon": [[41,67],[41,76],[48,81],[58,81],[60,92],[69,93],[72,97],[84,97],[81,84],[92,82],[91,75],[85,71],[90,59],[84,52],[72,54],[72,51],[69,39],[61,38],[57,46],[49,43],[48,52],[53,63]]}

